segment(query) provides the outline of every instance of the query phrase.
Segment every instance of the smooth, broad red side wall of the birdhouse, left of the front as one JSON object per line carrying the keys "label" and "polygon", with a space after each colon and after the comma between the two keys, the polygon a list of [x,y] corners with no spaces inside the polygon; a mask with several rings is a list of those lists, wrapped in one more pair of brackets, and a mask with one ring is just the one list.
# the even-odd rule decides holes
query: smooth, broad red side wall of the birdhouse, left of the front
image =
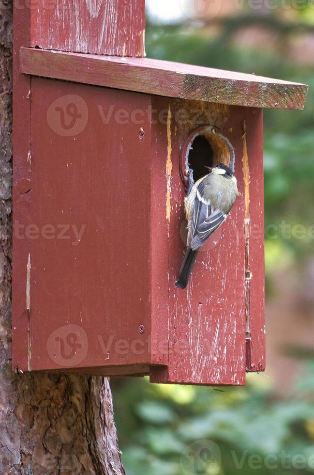
{"label": "smooth, broad red side wall of the birdhouse, left of the front", "polygon": [[31,81],[31,369],[150,362],[149,105]]}

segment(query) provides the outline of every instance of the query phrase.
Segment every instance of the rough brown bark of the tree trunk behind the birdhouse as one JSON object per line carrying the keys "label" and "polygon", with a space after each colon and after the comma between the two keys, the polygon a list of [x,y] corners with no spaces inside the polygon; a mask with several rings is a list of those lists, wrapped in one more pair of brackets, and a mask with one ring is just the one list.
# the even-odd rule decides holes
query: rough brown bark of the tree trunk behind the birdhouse
{"label": "rough brown bark of the tree trunk behind the birdhouse", "polygon": [[11,60],[0,0],[0,473],[124,474],[106,378],[11,372]]}

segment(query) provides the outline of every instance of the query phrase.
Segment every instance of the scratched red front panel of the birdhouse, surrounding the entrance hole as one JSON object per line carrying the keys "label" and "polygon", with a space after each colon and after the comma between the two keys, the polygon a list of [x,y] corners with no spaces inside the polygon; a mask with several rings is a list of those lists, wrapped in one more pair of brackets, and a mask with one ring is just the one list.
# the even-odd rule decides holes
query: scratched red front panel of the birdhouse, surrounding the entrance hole
{"label": "scratched red front panel of the birdhouse, surrounding the entrance hole", "polygon": [[[262,111],[157,97],[153,110],[166,121],[152,128],[152,353],[162,341],[169,345],[167,366],[152,367],[150,380],[243,384],[246,369],[265,364]],[[229,146],[240,196],[198,253],[187,288],[178,289],[187,234],[186,148],[196,180],[208,174],[206,167],[230,164]]]}

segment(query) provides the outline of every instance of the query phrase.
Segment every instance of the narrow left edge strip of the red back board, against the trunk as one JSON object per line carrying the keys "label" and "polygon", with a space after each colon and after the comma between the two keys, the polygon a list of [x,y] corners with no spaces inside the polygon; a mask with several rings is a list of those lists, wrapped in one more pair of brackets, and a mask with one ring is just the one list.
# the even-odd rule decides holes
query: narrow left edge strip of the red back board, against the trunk
{"label": "narrow left edge strip of the red back board, against the trunk", "polygon": [[30,42],[30,8],[15,8],[13,50],[13,254],[12,351],[15,361],[29,367],[30,316],[27,309],[27,265],[30,242],[18,226],[30,224],[30,77],[19,72],[19,54]]}

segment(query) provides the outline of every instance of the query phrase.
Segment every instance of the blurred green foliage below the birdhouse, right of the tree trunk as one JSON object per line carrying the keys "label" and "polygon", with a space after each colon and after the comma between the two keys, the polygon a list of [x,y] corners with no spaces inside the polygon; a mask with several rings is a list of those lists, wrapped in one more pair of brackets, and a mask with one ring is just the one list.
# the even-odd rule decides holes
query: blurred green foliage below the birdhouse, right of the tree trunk
{"label": "blurred green foliage below the birdhouse, right of the tree trunk", "polygon": [[[287,467],[290,473],[314,474],[313,370],[309,365],[295,394],[284,401],[262,374],[248,375],[246,387],[219,391],[156,385],[147,378],[112,380],[127,474],[279,475]],[[218,446],[219,472],[195,449],[199,471],[191,470],[193,449],[185,449],[197,441],[202,447],[204,440]],[[260,461],[254,466],[256,456]]]}

